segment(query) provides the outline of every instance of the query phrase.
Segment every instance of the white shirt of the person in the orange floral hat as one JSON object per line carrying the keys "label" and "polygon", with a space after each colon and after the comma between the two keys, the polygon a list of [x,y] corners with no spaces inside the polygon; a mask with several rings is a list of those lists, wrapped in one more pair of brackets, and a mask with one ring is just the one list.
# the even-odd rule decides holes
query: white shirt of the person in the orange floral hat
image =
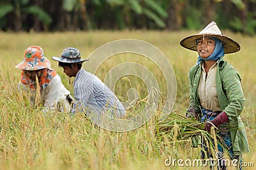
{"label": "white shirt of the person in the orange floral hat", "polygon": [[[29,87],[20,81],[18,89],[22,89],[28,92]],[[36,92],[34,89],[30,89],[30,92],[32,95],[31,103],[35,104]],[[68,111],[70,110],[70,106],[67,101],[67,96],[69,94],[70,92],[64,87],[60,76],[57,74],[54,76],[54,78],[51,79],[47,87],[45,87],[43,90],[40,90],[40,99],[47,110],[56,110],[58,102],[61,102],[61,104],[65,106],[65,108],[61,108],[61,111]]]}

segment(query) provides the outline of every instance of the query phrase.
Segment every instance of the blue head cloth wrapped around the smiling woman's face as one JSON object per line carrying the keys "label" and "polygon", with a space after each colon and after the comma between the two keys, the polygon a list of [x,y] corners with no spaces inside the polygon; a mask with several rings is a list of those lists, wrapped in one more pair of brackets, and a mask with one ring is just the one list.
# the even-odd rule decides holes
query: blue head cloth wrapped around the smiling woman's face
{"label": "blue head cloth wrapped around the smiling woman's face", "polygon": [[[215,37],[207,37],[207,38],[211,38],[215,41],[214,51],[206,59],[202,59],[199,55],[198,58],[197,58],[196,65],[199,65],[201,63],[201,60],[218,60],[218,59],[220,59],[220,57],[223,57],[225,55],[224,47],[223,47],[222,41],[220,39],[215,38]],[[197,43],[198,43],[198,39],[196,39],[196,44]]]}

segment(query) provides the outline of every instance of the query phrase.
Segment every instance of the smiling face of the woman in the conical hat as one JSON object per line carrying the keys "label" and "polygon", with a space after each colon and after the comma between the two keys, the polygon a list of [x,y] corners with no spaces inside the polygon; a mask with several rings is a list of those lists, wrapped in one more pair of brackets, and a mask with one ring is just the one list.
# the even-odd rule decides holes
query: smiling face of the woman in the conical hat
{"label": "smiling face of the woman in the conical hat", "polygon": [[214,48],[215,41],[213,39],[205,37],[198,40],[197,52],[202,59],[209,57],[213,53]]}

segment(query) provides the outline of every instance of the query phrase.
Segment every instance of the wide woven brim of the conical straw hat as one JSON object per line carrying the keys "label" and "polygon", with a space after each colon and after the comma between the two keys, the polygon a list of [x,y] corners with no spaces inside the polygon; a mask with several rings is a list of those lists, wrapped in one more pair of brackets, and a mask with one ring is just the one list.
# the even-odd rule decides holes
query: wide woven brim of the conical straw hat
{"label": "wide woven brim of the conical straw hat", "polygon": [[240,45],[236,41],[234,41],[234,39],[227,36],[221,36],[219,34],[197,34],[194,36],[188,36],[187,38],[184,38],[182,39],[182,41],[180,41],[180,45],[189,50],[197,51],[196,39],[207,36],[220,39],[223,43],[224,53],[235,53],[239,52],[240,50]]}

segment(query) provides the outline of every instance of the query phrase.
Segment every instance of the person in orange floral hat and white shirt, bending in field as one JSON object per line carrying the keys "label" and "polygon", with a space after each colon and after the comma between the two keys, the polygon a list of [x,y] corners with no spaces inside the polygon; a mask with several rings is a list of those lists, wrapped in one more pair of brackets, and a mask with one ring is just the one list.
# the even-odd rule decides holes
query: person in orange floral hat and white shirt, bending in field
{"label": "person in orange floral hat and white shirt, bending in field", "polygon": [[24,52],[24,60],[15,67],[22,70],[19,90],[31,93],[32,104],[42,103],[42,111],[71,111],[74,99],[61,83],[60,76],[51,68],[41,46],[29,46]]}

